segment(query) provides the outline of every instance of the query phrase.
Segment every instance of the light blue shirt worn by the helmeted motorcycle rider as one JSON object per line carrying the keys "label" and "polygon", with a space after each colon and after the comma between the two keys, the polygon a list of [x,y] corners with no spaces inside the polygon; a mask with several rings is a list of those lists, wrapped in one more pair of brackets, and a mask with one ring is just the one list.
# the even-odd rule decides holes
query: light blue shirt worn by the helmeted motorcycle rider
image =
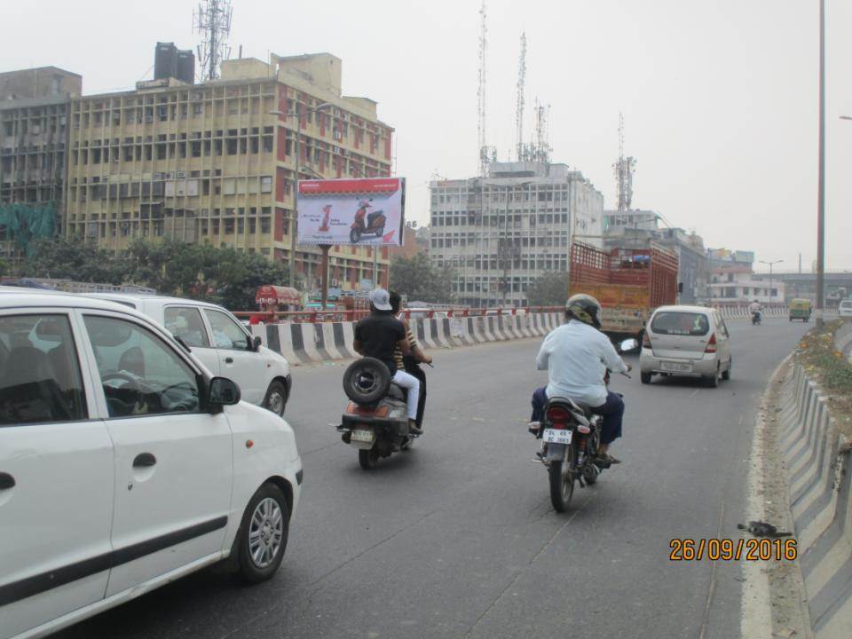
{"label": "light blue shirt worn by the helmeted motorcycle rider", "polygon": [[544,338],[535,366],[549,373],[548,398],[569,398],[587,406],[602,406],[606,401],[607,368],[627,372],[610,338],[577,319]]}

